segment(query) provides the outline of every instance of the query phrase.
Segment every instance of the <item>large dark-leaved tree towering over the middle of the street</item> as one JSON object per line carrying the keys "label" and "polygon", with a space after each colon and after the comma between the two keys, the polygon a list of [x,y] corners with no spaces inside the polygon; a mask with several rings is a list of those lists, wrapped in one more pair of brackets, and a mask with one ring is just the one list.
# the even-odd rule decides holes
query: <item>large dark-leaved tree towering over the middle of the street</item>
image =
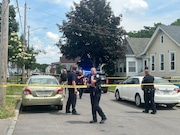
{"label": "large dark-leaved tree towering over the middle of the street", "polygon": [[[68,59],[81,58],[82,67],[98,67],[124,55],[120,27],[122,16],[116,17],[106,0],[82,0],[66,14],[67,21],[57,24],[62,38],[56,45]],[[89,67],[90,68],[90,67]]]}

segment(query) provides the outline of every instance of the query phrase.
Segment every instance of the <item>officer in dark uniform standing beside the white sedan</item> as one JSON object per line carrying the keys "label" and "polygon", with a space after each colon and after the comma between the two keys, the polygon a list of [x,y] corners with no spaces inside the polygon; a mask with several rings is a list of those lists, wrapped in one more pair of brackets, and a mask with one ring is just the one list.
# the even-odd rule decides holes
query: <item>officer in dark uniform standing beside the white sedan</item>
{"label": "officer in dark uniform standing beside the white sedan", "polygon": [[[142,80],[142,90],[144,91],[145,110],[143,112],[149,113],[149,109],[151,107],[152,109],[151,114],[156,114],[157,111],[156,111],[156,105],[154,102],[155,88],[153,84],[154,77],[149,74],[148,67],[145,68],[144,73],[145,73],[145,76]],[[148,83],[150,84],[148,85]]]}

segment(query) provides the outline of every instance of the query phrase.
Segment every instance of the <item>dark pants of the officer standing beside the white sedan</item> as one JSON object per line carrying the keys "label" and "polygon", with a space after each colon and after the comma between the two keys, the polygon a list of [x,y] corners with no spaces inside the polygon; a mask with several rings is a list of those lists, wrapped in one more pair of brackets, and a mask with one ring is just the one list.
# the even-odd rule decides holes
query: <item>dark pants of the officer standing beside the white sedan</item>
{"label": "dark pants of the officer standing beside the white sedan", "polygon": [[144,91],[145,111],[149,112],[150,108],[153,112],[156,112],[156,104],[154,102],[154,90]]}

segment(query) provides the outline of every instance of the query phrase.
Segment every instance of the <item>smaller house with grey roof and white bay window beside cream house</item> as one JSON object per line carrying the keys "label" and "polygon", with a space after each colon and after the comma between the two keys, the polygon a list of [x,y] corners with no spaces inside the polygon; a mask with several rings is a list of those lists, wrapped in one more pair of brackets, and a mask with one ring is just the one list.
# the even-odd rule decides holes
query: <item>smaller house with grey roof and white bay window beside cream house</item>
{"label": "smaller house with grey roof and white bay window beside cream house", "polygon": [[116,76],[134,76],[143,70],[143,58],[140,56],[146,48],[150,38],[131,38],[124,40],[126,46],[125,57],[116,63]]}

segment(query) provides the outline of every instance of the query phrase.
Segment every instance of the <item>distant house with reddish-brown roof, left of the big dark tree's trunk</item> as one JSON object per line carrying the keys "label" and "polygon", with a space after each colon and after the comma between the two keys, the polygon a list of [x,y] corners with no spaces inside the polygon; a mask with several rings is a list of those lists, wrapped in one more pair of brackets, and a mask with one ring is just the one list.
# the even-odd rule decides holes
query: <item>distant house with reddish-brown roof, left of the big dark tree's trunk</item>
{"label": "distant house with reddish-brown roof, left of the big dark tree's trunk", "polygon": [[66,68],[67,70],[70,70],[71,65],[77,64],[77,62],[79,61],[80,61],[80,58],[69,60],[69,59],[66,59],[64,56],[60,57],[61,66],[64,66],[64,68]]}

